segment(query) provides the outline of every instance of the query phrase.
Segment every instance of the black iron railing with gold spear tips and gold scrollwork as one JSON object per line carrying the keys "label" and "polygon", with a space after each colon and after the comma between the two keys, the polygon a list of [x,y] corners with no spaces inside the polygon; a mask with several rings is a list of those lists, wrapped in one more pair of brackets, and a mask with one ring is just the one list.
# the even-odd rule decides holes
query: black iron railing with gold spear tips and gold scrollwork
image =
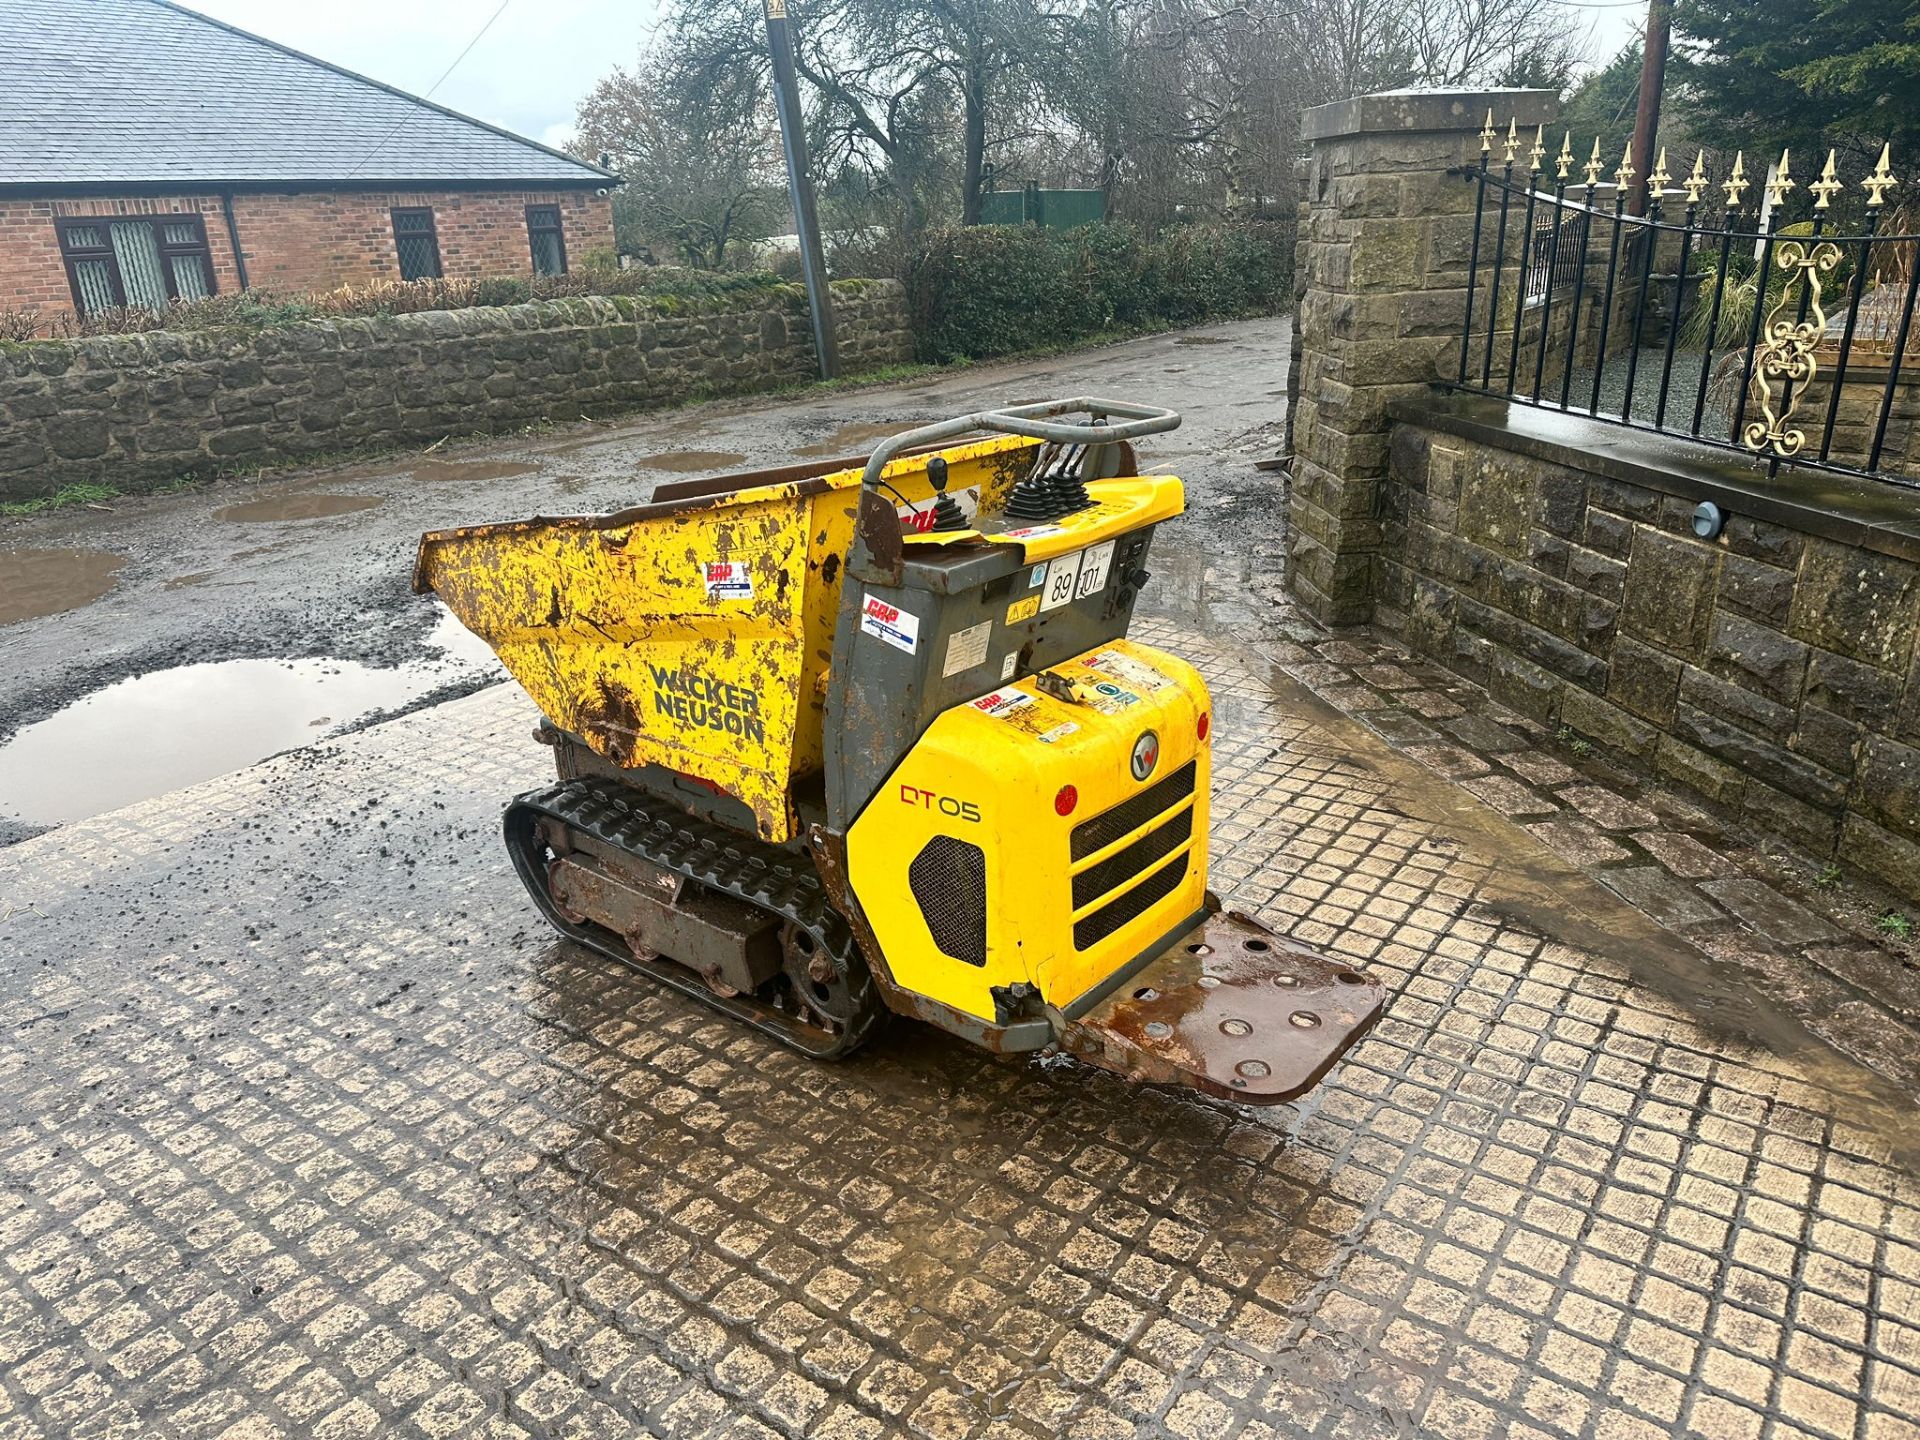
{"label": "black iron railing with gold spear tips and gold scrollwork", "polygon": [[[1755,182],[1661,152],[1634,213],[1634,157],[1572,179],[1488,117],[1475,186],[1461,390],[1680,434],[1780,465],[1920,486],[1920,236],[1889,202],[1889,152],[1859,184]],[[1501,150],[1500,159],[1494,152]],[[1523,159],[1524,156],[1524,159]]]}

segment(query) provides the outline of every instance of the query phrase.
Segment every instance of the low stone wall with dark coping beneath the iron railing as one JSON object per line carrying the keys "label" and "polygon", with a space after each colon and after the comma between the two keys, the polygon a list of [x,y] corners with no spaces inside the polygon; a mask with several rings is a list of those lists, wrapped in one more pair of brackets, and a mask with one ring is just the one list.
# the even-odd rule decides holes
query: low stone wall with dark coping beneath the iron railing
{"label": "low stone wall with dark coping beneath the iron railing", "polygon": [[[1920,501],[1496,401],[1392,419],[1379,624],[1920,895]],[[1730,516],[1711,540],[1703,499]]]}

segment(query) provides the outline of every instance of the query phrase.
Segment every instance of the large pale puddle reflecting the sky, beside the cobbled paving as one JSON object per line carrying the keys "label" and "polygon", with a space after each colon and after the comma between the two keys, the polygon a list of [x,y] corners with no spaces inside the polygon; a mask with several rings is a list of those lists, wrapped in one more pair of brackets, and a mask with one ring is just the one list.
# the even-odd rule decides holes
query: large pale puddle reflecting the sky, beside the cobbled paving
{"label": "large pale puddle reflecting the sky, beside the cobbled paving", "polygon": [[309,745],[334,722],[420,699],[492,668],[484,641],[442,612],[434,659],[390,670],[351,660],[217,660],[132,676],[0,745],[0,814],[60,826]]}

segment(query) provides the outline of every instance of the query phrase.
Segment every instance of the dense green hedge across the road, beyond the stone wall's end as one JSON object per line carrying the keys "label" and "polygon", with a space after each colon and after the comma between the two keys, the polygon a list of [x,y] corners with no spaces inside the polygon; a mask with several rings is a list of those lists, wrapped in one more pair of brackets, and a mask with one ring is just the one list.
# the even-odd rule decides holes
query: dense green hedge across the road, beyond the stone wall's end
{"label": "dense green hedge across the road, beyond the stone wall's end", "polygon": [[1292,301],[1294,232],[1273,221],[931,232],[908,263],[925,361],[979,359],[1112,330],[1275,313]]}

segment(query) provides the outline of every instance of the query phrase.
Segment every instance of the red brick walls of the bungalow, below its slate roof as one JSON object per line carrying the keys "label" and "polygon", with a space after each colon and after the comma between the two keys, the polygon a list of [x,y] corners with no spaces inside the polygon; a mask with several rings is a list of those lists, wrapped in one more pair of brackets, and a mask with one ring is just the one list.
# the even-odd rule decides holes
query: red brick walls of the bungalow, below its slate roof
{"label": "red brick walls of the bungalow, below its slate roof", "polygon": [[[559,205],[566,259],[612,248],[612,202],[591,190],[236,194],[234,223],[248,280],[267,290],[334,290],[397,280],[396,207],[428,207],[447,276],[532,275],[528,205]],[[219,196],[136,200],[0,200],[0,309],[73,309],[54,221],[63,215],[196,213],[207,230],[213,282],[240,288]]]}

